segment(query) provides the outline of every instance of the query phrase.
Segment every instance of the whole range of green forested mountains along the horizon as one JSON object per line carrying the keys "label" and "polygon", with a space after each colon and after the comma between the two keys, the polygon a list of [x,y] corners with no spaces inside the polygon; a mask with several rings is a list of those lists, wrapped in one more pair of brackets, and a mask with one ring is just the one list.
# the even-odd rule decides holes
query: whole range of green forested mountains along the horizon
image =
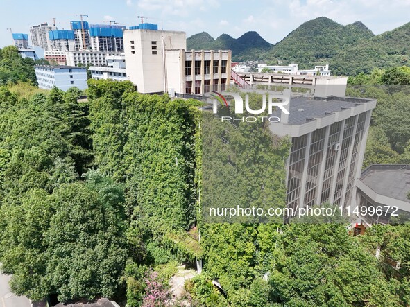
{"label": "whole range of green forested mountains along the horizon", "polygon": [[[265,39],[271,41],[270,37]],[[234,61],[297,63],[301,69],[330,64],[333,74],[348,76],[370,73],[375,68],[409,66],[410,60],[410,23],[374,35],[360,21],[343,26],[327,17],[318,17],[300,25],[274,45],[262,40],[257,33],[245,33],[237,40],[226,34],[214,40],[209,34],[200,33],[188,37],[187,47],[221,49],[223,46],[232,50]]]}

